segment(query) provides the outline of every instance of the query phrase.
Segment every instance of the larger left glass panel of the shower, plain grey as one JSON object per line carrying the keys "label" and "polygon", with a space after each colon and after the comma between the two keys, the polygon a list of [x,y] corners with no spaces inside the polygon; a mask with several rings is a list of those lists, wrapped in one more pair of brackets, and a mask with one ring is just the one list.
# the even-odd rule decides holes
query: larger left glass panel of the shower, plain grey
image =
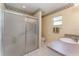
{"label": "larger left glass panel of the shower, plain grey", "polygon": [[25,17],[4,13],[4,55],[25,54]]}

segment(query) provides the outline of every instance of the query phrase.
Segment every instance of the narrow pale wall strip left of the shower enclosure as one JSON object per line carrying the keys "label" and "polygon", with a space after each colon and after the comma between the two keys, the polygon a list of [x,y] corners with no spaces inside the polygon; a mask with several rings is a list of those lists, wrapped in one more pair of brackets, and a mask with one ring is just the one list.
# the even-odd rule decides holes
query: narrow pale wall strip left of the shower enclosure
{"label": "narrow pale wall strip left of the shower enclosure", "polygon": [[4,10],[4,4],[0,3],[0,55],[3,55],[4,53],[4,49],[3,49],[3,45],[2,45],[2,42],[3,42],[3,38],[2,38],[2,33],[3,33],[3,24],[4,24],[4,16],[3,16],[3,10]]}

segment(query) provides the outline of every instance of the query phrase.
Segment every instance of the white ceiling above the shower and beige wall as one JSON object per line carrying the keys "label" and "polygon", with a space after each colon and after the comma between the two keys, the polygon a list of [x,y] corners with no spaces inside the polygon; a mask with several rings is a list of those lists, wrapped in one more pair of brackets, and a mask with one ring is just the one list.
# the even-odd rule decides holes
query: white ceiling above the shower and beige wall
{"label": "white ceiling above the shower and beige wall", "polygon": [[[43,16],[54,12],[55,10],[61,9],[62,7],[68,5],[68,3],[7,3],[6,6],[9,8],[15,8],[22,10],[28,14],[33,14],[37,10],[43,12]],[[26,6],[23,8],[22,6]]]}

